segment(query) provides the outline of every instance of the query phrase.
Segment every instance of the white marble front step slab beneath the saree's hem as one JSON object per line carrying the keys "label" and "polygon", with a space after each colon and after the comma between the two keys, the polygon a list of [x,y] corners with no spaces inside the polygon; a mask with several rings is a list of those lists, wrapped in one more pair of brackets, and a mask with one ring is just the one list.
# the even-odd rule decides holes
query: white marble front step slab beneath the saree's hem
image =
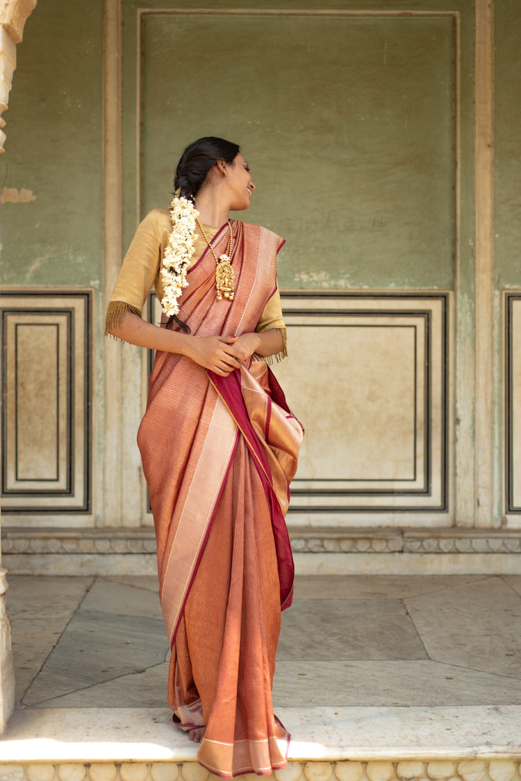
{"label": "white marble front step slab beneath the saree's hem", "polygon": [[[292,736],[290,762],[277,781],[521,778],[519,705],[308,706],[277,708],[277,716]],[[115,781],[116,771],[120,781],[173,781],[178,775],[180,781],[206,781],[197,750],[173,729],[168,708],[22,708],[0,738],[0,779],[23,781],[20,773],[38,762],[46,763],[45,772],[35,768],[27,781],[53,781],[49,765],[58,764],[64,769],[56,773],[59,781],[84,781],[89,763],[98,763],[97,772],[89,769],[91,781]],[[20,765],[17,775],[5,773],[7,762]],[[70,774],[66,763],[77,763],[76,769],[68,765]],[[110,765],[105,778],[99,763]],[[130,765],[137,763],[141,772],[133,775]]]}

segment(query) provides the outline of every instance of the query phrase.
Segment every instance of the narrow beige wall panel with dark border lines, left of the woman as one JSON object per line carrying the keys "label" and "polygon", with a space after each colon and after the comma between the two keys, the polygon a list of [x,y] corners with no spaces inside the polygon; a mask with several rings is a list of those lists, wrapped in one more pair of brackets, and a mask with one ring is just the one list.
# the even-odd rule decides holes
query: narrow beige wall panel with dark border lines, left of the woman
{"label": "narrow beige wall panel with dark border lines, left of the woman", "polygon": [[5,515],[90,512],[91,291],[2,293]]}

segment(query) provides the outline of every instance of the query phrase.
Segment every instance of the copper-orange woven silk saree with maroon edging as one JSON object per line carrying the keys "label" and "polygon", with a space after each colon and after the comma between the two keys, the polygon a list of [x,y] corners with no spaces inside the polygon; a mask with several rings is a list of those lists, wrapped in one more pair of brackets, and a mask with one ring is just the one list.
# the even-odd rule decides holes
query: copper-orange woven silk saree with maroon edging
{"label": "copper-orange woven silk saree with maroon edging", "polygon": [[[188,272],[180,319],[199,337],[255,330],[276,286],[280,238],[233,222],[234,301],[216,301],[209,251]],[[219,255],[227,231],[212,240]],[[271,692],[293,560],[284,514],[302,426],[266,362],[228,377],[158,352],[137,441],[170,639],[168,700],[181,729],[205,726],[198,761],[231,778],[287,762]]]}

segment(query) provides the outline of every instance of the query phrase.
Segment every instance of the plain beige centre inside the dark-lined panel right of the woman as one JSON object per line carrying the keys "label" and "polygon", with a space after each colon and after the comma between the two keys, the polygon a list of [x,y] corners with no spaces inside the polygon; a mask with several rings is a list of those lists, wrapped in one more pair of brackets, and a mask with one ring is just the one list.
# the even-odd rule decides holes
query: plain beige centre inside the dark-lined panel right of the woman
{"label": "plain beige centre inside the dark-lined panel right of the woman", "polygon": [[292,401],[307,424],[298,477],[353,488],[414,481],[416,327],[386,316],[343,319],[329,326],[309,318],[291,342],[292,360],[313,367]]}

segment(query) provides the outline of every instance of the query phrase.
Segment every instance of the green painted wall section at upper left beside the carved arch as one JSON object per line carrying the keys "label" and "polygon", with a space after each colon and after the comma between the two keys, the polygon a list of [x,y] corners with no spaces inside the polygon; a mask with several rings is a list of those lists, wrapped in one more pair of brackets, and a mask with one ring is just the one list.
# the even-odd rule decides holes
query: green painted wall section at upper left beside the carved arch
{"label": "green painted wall section at upper left beside the carved arch", "polygon": [[16,48],[2,188],[2,284],[102,281],[102,0],[44,0]]}

